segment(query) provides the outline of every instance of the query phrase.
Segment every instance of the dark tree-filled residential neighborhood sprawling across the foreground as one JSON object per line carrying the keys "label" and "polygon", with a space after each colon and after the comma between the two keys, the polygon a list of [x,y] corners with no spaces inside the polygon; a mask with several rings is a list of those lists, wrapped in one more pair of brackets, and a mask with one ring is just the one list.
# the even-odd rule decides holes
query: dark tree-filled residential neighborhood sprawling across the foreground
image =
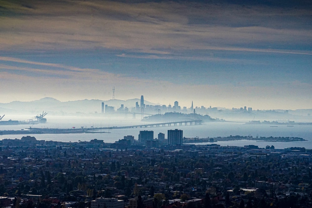
{"label": "dark tree-filled residential neighborhood sprawling across the foreground", "polygon": [[3,139],[0,146],[1,207],[312,206],[311,151],[305,148],[113,148],[97,139],[30,136]]}

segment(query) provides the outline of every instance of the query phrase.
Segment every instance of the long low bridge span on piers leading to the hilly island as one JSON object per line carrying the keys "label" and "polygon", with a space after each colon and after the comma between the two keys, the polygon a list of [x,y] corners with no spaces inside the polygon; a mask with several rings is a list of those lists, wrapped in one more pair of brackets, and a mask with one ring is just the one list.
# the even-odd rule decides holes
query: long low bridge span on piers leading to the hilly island
{"label": "long low bridge span on piers leading to the hilly island", "polygon": [[165,127],[165,126],[187,126],[187,125],[201,125],[202,120],[189,120],[189,121],[174,121],[165,123],[149,123],[134,126],[112,126],[112,127],[102,127],[96,129],[120,129],[120,128],[148,128],[148,127]]}

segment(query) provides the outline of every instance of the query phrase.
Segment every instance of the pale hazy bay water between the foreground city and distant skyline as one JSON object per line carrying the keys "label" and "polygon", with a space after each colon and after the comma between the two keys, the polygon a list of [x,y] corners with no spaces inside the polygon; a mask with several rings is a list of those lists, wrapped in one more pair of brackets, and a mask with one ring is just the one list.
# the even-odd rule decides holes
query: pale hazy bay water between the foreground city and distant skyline
{"label": "pale hazy bay water between the foreground city and distant skyline", "polygon": [[[27,116],[25,116],[25,120]],[[12,117],[12,120],[21,120]],[[170,122],[170,121],[168,121]],[[106,129],[98,130],[96,132],[101,133],[75,133],[75,134],[32,134],[27,131],[26,128],[32,126],[32,128],[94,128],[100,127],[113,127],[113,126],[131,126],[147,124],[141,122],[140,119],[132,118],[110,118],[103,116],[49,116],[47,123],[42,124],[25,124],[25,125],[10,125],[0,126],[0,130],[21,130],[24,129],[25,134],[19,135],[0,135],[0,140],[5,138],[22,138],[22,136],[34,136],[37,140],[46,141],[61,141],[61,142],[78,142],[78,141],[90,141],[91,139],[101,139],[105,143],[114,143],[119,139],[123,139],[124,136],[132,135],[135,139],[138,139],[139,131],[152,130],[154,131],[154,138],[158,137],[158,133],[164,133],[167,138],[167,131],[169,129],[181,129],[183,130],[183,137],[187,138],[215,138],[215,137],[227,137],[227,136],[253,136],[253,137],[300,137],[308,141],[296,141],[296,142],[257,142],[251,140],[235,140],[235,141],[220,141],[214,142],[214,144],[220,144],[221,146],[244,146],[244,145],[257,145],[260,148],[265,148],[267,145],[273,145],[275,149],[284,149],[289,147],[305,147],[306,149],[312,149],[312,126],[310,125],[277,125],[277,127],[271,127],[266,124],[244,124],[236,122],[220,122],[220,123],[202,123],[202,125],[187,125],[187,126],[166,126],[166,127],[152,127],[152,128],[127,128],[127,129]],[[94,131],[95,132],[95,131]],[[103,133],[106,132],[106,133]],[[211,144],[211,143],[195,143],[195,144]]]}

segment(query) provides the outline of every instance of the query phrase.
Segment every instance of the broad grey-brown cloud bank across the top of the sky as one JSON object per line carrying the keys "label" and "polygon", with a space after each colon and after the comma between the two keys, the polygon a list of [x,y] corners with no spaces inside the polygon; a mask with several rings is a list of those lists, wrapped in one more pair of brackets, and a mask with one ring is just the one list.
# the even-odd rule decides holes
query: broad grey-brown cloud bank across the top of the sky
{"label": "broad grey-brown cloud bank across the top of the sky", "polygon": [[[289,53],[291,48],[297,50],[298,44],[312,44],[308,9],[283,12],[267,6],[110,1],[34,1],[29,8],[16,7],[12,10],[21,15],[0,17],[2,50],[107,48],[156,54],[189,49]],[[285,45],[290,48],[286,50]]]}

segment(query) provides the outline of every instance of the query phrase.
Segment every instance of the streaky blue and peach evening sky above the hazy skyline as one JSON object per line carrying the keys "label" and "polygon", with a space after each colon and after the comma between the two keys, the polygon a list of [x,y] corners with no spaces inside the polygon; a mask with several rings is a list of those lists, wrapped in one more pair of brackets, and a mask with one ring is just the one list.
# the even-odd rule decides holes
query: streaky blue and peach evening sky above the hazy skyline
{"label": "streaky blue and peach evening sky above the hazy skyline", "polygon": [[0,103],[312,108],[312,2],[0,0]]}

